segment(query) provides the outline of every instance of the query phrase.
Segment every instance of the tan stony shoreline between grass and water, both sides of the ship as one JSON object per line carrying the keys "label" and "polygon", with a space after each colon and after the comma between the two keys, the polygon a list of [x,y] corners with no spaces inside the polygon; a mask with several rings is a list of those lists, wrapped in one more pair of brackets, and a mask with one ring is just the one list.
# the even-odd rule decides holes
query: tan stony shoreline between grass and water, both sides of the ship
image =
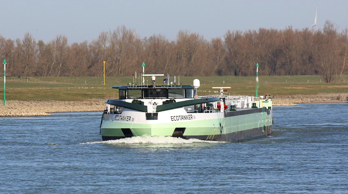
{"label": "tan stony shoreline between grass and water, both sides of the ship", "polygon": [[[317,95],[275,95],[273,106],[296,106],[298,103],[344,103],[348,93]],[[104,99],[90,99],[83,102],[70,101],[18,101],[7,100],[6,106],[0,100],[0,116],[50,116],[56,112],[103,111]]]}

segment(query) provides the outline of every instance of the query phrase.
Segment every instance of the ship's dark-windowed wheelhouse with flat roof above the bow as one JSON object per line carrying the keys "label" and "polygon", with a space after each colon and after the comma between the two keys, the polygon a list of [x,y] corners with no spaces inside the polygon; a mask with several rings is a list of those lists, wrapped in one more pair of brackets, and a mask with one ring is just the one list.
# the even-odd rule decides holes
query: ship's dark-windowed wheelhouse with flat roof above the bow
{"label": "ship's dark-windowed wheelhouse with flat roof above the bow", "polygon": [[154,98],[194,98],[193,86],[122,86],[119,99],[154,99]]}

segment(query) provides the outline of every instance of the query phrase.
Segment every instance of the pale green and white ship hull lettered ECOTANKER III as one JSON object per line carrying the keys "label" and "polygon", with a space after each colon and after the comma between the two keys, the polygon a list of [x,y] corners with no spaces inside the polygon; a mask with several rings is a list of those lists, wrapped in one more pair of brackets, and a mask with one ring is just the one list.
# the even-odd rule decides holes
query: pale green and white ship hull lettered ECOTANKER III
{"label": "pale green and white ship hull lettered ECOTANKER III", "polygon": [[240,142],[266,137],[272,132],[272,110],[265,107],[225,113],[187,113],[182,109],[176,109],[159,113],[157,120],[144,119],[145,113],[125,112],[123,115],[103,114],[103,140],[163,135]]}

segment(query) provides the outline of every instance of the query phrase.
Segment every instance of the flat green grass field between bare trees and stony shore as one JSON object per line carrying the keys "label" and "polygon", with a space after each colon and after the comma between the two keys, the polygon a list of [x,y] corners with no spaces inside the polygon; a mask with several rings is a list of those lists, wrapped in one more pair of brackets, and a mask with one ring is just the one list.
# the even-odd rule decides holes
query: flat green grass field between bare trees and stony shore
{"label": "flat green grass field between bare trees and stony shore", "polygon": [[[260,76],[259,95],[295,95],[318,93],[341,93],[348,91],[348,75],[342,76],[345,83],[324,83],[322,76]],[[163,83],[165,77],[157,77],[157,84]],[[3,77],[0,79],[3,80]],[[149,77],[147,78],[149,79]],[[194,79],[200,80],[199,95],[216,94],[212,87],[231,87],[231,95],[255,95],[255,76],[180,76],[181,84],[190,84]],[[178,76],[176,76],[178,81]],[[149,80],[150,81],[150,80]],[[170,81],[173,81],[171,76]],[[223,84],[223,81],[225,83]],[[29,77],[6,78],[6,100],[68,100],[85,101],[91,98],[117,98],[118,90],[112,86],[124,86],[133,82],[133,77]],[[137,81],[138,82],[138,81]],[[145,85],[147,80],[145,79]],[[210,91],[210,92],[209,92]],[[3,84],[0,87],[0,99],[3,99]]]}

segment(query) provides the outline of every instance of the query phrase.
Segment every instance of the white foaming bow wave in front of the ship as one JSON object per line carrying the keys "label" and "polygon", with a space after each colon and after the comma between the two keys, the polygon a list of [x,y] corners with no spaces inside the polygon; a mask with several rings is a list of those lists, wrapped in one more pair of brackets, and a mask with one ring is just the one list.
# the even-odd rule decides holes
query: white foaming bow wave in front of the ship
{"label": "white foaming bow wave in front of the ship", "polygon": [[128,137],[117,140],[108,140],[100,142],[87,142],[80,144],[192,144],[192,143],[226,143],[226,142],[217,142],[217,141],[206,141],[199,139],[182,139],[177,137],[170,136],[135,136]]}

